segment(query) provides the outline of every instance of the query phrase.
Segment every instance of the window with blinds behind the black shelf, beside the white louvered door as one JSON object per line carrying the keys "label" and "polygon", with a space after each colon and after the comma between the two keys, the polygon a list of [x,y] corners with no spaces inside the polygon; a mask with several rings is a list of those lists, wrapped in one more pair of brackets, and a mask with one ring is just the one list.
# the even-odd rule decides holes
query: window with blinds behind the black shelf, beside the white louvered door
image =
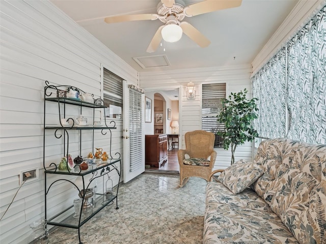
{"label": "window with blinds behind the black shelf, beside the white louvered door", "polygon": [[121,118],[123,79],[103,68],[103,100],[106,117]]}

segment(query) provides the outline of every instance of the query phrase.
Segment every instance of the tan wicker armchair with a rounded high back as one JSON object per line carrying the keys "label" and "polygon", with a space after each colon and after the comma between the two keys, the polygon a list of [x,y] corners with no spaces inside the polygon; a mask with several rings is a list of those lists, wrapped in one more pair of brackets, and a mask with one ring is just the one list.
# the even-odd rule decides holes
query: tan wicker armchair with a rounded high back
{"label": "tan wicker armchair with a rounded high back", "polygon": [[[215,135],[206,131],[192,131],[184,135],[185,149],[178,150],[178,161],[180,165],[180,187],[186,184],[189,177],[196,176],[209,180],[216,159],[216,151],[214,151]],[[195,159],[201,161],[202,165],[188,165],[184,162],[185,155],[189,156],[189,160]],[[210,160],[207,160],[210,156]],[[187,160],[185,160],[187,161]]]}

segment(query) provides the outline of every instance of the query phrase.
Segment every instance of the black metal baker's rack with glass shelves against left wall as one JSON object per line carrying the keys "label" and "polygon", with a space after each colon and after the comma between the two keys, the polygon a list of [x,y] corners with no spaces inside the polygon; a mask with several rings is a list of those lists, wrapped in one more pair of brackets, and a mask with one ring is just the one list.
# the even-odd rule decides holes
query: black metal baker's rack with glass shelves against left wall
{"label": "black metal baker's rack with glass shelves against left wall", "polygon": [[[67,86],[67,85],[49,85],[48,81],[45,81],[46,86],[44,87],[44,134],[43,134],[43,167],[44,167],[44,173],[45,173],[45,220],[47,225],[54,225],[54,226],[61,226],[61,227],[67,227],[67,228],[74,228],[78,229],[78,238],[79,238],[79,244],[82,244],[82,241],[80,240],[80,227],[83,226],[87,221],[89,221],[93,216],[95,216],[101,209],[103,209],[105,206],[112,204],[114,200],[116,200],[116,209],[118,209],[118,191],[119,191],[119,182],[121,177],[121,172],[119,171],[118,166],[120,166],[121,169],[121,160],[120,160],[120,154],[116,153],[115,156],[117,158],[112,157],[111,153],[111,143],[112,143],[112,131],[116,129],[115,121],[110,121],[110,123],[107,124],[106,118],[105,118],[105,108],[103,100],[102,99],[96,99],[94,100],[94,103],[81,101],[74,98],[67,98],[67,88],[72,88],[79,90],[80,92],[83,92],[81,89],[73,86]],[[60,125],[47,125],[46,124],[46,103],[47,102],[55,102],[58,103],[58,116]],[[71,121],[71,125],[63,126],[61,124],[60,117],[63,115],[65,117],[66,115],[66,105],[69,106],[78,106],[80,107],[80,114],[82,114],[83,108],[93,109],[93,122],[94,122],[94,115],[95,115],[95,109],[103,109],[104,111],[104,126],[76,126],[74,124],[73,118],[67,118],[68,121]],[[63,107],[63,108],[62,108]],[[63,111],[62,111],[63,110]],[[106,135],[107,133],[110,133],[110,151],[108,153],[108,156],[110,157],[107,161],[103,161],[99,165],[89,165],[87,170],[82,170],[80,166],[76,165],[73,169],[69,169],[67,165],[67,170],[59,170],[59,167],[55,163],[50,163],[49,166],[46,167],[45,165],[45,138],[46,138],[46,131],[54,131],[54,135],[56,138],[63,139],[63,147],[64,147],[64,157],[67,157],[69,155],[69,132],[71,131],[77,131],[79,132],[79,155],[82,155],[82,131],[84,130],[91,130],[92,131],[92,148],[94,150],[94,130],[101,130],[102,135]],[[59,132],[62,132],[61,134]],[[94,154],[94,152],[93,152]],[[89,189],[91,183],[93,180],[99,177],[107,176],[108,179],[110,177],[108,176],[108,173],[115,171],[119,175],[119,181],[118,185],[115,187],[115,194],[110,195],[110,198],[108,199],[107,195],[105,195],[105,190],[103,189],[103,193],[96,193],[95,197],[95,207],[92,208],[91,211],[83,211],[83,207],[80,208],[79,212],[79,218],[65,218],[62,220],[63,216],[66,215],[67,211],[71,211],[71,208],[73,208],[73,205],[67,206],[65,209],[62,209],[60,212],[58,212],[55,216],[47,216],[47,197],[50,193],[50,189],[53,185],[56,185],[59,181],[67,181],[70,182],[75,188],[78,193],[81,193],[82,196],[82,206],[85,202],[85,192],[87,189]],[[57,179],[53,181],[49,186],[47,186],[47,177],[49,175],[62,175],[63,177],[60,179]],[[91,179],[89,182],[85,182],[85,176],[91,174]],[[75,185],[74,182],[71,180],[65,178],[67,175],[73,175],[77,177],[82,177],[83,180],[83,189],[79,189],[78,186]]]}

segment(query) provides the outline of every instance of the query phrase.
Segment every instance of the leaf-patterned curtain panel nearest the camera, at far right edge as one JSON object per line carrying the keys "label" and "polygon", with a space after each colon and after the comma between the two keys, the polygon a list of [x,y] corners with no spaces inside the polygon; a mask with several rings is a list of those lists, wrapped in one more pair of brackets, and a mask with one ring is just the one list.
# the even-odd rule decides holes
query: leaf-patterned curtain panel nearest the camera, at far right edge
{"label": "leaf-patterned curtain panel nearest the camera, at far right edge", "polygon": [[288,137],[326,143],[326,6],[288,43]]}

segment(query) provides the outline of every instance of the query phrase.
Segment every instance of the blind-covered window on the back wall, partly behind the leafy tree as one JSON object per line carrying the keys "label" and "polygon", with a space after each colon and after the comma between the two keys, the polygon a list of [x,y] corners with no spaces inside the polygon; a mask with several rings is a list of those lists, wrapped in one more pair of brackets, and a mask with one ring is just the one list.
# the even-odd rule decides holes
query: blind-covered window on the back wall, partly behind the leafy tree
{"label": "blind-covered window on the back wall, partly behind the leafy tree", "polygon": [[224,124],[216,117],[226,96],[226,83],[202,85],[202,130],[215,134],[214,147],[223,147],[223,140],[216,132],[224,130]]}

